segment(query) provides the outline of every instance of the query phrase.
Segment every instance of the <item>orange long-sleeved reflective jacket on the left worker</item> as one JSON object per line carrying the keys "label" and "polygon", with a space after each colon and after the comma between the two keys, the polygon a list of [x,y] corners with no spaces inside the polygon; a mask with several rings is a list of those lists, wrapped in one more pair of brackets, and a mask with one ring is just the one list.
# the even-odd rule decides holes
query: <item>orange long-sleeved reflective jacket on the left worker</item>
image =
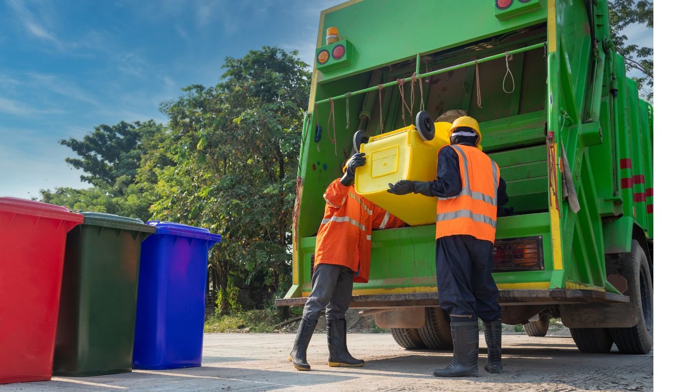
{"label": "orange long-sleeved reflective jacket on the left worker", "polygon": [[319,226],[314,263],[344,265],[355,272],[353,281],[367,283],[374,228],[404,226],[401,219],[334,180],[324,194],[327,204]]}

